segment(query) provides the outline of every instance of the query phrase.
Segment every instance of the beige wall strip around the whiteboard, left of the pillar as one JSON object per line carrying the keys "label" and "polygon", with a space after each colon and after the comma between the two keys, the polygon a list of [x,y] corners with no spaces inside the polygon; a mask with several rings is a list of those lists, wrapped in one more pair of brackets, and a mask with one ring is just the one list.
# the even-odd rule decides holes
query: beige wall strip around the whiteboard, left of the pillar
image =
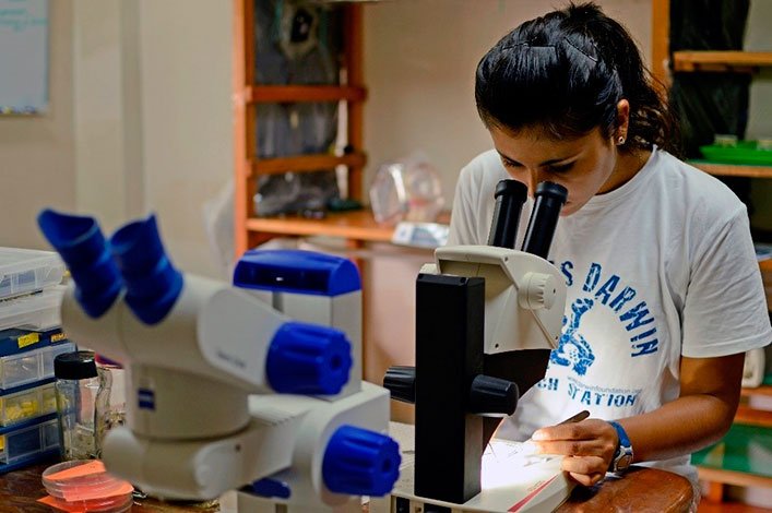
{"label": "beige wall strip around the whiteboard, left of the pillar", "polygon": [[72,0],[49,2],[48,112],[0,116],[0,246],[47,248],[37,213],[75,205],[72,10]]}

